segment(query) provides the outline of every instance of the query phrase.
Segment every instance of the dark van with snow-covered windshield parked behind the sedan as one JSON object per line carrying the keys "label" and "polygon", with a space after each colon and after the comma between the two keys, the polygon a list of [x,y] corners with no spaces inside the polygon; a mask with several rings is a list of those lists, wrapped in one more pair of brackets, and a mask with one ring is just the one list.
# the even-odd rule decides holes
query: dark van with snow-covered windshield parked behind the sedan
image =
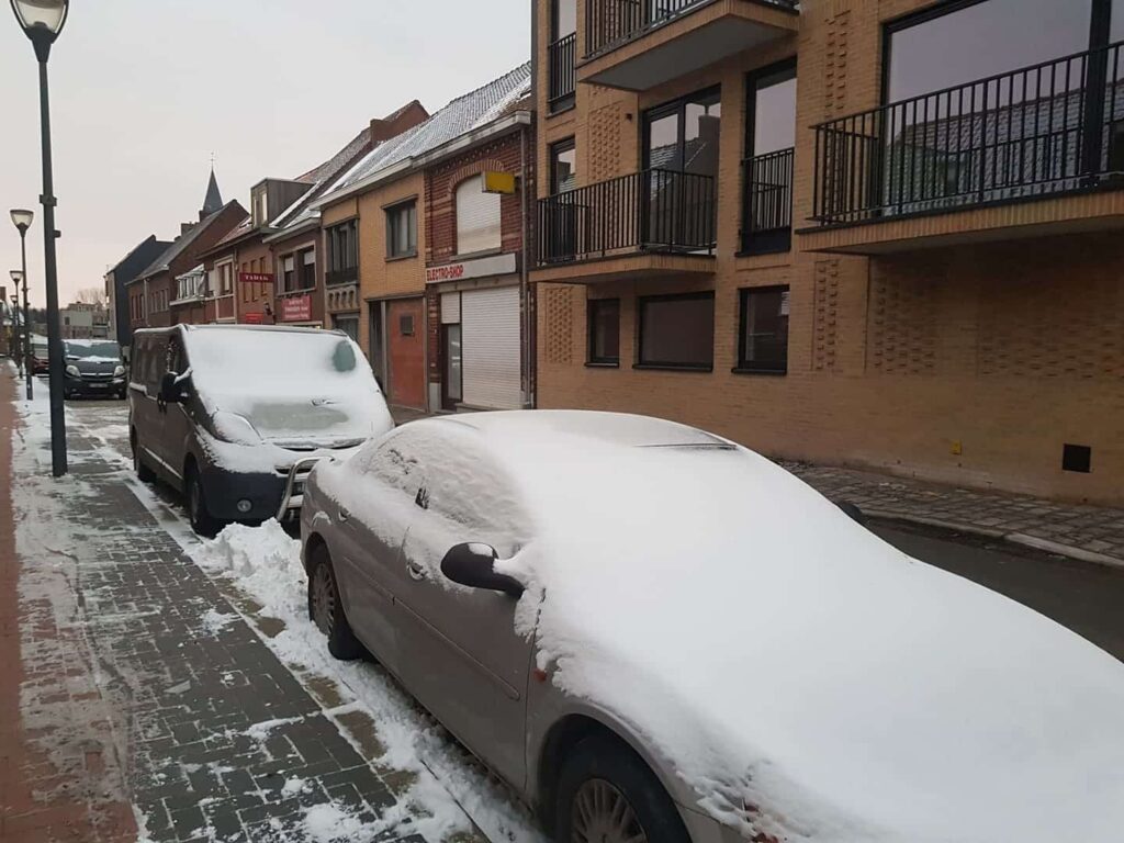
{"label": "dark van with snow-covered windshield parked behind the sedan", "polygon": [[371,366],[341,332],[145,329],[132,362],[134,466],[142,480],[182,491],[202,535],[299,509],[318,459],[393,427]]}

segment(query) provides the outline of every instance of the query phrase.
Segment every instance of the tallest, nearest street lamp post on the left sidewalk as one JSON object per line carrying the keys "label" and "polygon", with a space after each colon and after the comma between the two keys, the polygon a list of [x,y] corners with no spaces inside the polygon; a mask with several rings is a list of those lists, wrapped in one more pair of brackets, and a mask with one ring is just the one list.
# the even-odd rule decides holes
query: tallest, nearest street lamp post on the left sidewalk
{"label": "tallest, nearest street lamp post on the left sidewalk", "polygon": [[44,280],[47,287],[47,357],[51,370],[51,469],[66,473],[66,418],[63,407],[63,343],[58,324],[58,266],[55,256],[55,196],[51,165],[51,97],[47,58],[70,10],[70,0],[11,0],[16,19],[35,47],[39,62],[39,119],[43,134],[43,242]]}

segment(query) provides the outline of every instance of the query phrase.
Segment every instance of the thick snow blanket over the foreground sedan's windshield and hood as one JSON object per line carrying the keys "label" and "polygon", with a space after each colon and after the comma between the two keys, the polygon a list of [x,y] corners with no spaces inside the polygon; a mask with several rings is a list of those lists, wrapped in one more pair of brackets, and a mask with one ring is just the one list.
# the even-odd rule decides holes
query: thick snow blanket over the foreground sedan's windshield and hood
{"label": "thick snow blanket over the foreground sedan's windshield and hood", "polygon": [[[617,417],[620,418],[620,417]],[[683,428],[687,429],[687,428]],[[490,422],[536,513],[498,563],[566,694],[752,839],[1115,843],[1124,664],[915,561],[768,460]]]}

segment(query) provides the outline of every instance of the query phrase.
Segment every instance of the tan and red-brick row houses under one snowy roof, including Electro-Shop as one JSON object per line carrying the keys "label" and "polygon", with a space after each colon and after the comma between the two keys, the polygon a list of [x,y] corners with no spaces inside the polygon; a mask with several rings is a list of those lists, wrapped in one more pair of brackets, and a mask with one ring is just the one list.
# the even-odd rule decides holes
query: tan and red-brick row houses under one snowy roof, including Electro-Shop
{"label": "tan and red-brick row houses under one snowy roof, including Electro-Shop", "polygon": [[528,63],[377,147],[314,203],[328,312],[355,319],[393,406],[532,400],[529,91]]}

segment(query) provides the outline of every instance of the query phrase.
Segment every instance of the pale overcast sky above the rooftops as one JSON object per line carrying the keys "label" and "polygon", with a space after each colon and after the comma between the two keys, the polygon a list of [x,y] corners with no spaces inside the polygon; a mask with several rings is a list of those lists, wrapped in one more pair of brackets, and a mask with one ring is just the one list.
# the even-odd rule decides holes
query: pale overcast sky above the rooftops
{"label": "pale overcast sky above the rooftops", "polygon": [[[19,266],[7,210],[31,208],[44,302],[35,55],[0,7],[0,283]],[[248,208],[265,176],[327,158],[372,118],[437,110],[529,57],[531,0],[78,0],[51,58],[60,297],[102,284],[202,206],[210,166]],[[9,296],[10,296],[9,291]]]}

